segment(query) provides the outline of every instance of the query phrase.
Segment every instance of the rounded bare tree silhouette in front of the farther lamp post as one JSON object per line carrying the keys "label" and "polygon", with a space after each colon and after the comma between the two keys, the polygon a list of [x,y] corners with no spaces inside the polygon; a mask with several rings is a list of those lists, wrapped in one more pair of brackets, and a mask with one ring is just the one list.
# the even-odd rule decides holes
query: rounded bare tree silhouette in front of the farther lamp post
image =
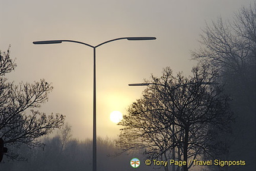
{"label": "rounded bare tree silhouette in front of the farther lamp post", "polygon": [[[124,127],[119,146],[124,151],[145,149],[149,159],[159,160],[171,159],[173,148],[184,161],[220,153],[225,144],[215,140],[230,131],[232,112],[222,87],[212,85],[216,72],[206,71],[207,66],[197,66],[193,76],[185,78],[182,73],[174,76],[167,67],[161,78],[146,81],[149,86],[142,98],[130,105],[129,114],[119,123]],[[183,169],[191,166],[187,163]]]}

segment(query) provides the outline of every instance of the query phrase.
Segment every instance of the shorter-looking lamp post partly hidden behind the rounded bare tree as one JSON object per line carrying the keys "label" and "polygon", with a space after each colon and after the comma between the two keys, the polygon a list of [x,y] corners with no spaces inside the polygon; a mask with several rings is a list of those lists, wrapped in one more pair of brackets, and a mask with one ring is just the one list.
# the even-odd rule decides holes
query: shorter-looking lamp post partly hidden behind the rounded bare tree
{"label": "shorter-looking lamp post partly hidden behind the rounded bare tree", "polygon": [[[194,82],[191,83],[185,83],[184,85],[191,85],[194,84]],[[216,84],[213,82],[201,82],[201,85],[212,85],[212,84]],[[159,86],[166,86],[166,85],[161,85],[158,83],[130,83],[129,86],[149,86],[149,85],[159,85]],[[183,85],[180,85],[183,86]],[[176,88],[179,88],[180,86],[177,86]],[[173,118],[174,119],[174,118]],[[173,135],[173,142],[175,142],[175,136],[174,136],[174,124],[172,124],[172,135]],[[172,149],[172,159],[175,160],[175,148]],[[172,164],[172,171],[175,171],[175,165]]]}

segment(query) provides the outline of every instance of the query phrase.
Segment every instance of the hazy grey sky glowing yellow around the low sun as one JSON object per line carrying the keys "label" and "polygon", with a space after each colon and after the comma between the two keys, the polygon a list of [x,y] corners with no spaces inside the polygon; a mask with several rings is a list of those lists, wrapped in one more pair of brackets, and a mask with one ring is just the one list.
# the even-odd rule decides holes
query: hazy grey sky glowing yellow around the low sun
{"label": "hazy grey sky glowing yellow around the low sun", "polygon": [[233,12],[249,0],[0,0],[0,50],[11,44],[18,64],[9,81],[44,78],[54,89],[43,112],[66,115],[74,137],[92,138],[93,50],[75,43],[34,45],[39,40],[76,40],[95,46],[119,37],[153,36],[153,41],[119,40],[97,49],[97,134],[116,137],[112,111],[126,113],[145,87],[129,87],[162,68],[190,74],[206,22]]}

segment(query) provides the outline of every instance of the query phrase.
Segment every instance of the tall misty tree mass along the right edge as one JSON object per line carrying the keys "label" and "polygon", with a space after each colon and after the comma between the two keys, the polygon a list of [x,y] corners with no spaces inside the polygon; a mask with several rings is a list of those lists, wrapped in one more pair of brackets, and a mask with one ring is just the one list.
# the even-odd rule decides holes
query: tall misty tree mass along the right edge
{"label": "tall misty tree mass along the right edge", "polygon": [[[226,159],[245,160],[241,170],[255,169],[256,160],[256,4],[241,8],[232,21],[219,18],[207,24],[201,34],[201,48],[193,59],[219,71],[219,83],[232,98],[236,122]],[[232,169],[232,168],[229,168]],[[235,168],[238,170],[238,166]]]}

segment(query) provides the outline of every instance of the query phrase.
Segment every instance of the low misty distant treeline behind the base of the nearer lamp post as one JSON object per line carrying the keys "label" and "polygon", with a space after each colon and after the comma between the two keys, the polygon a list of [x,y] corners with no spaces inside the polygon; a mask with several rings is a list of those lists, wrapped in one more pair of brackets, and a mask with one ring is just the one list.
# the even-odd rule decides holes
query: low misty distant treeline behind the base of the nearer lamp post
{"label": "low misty distant treeline behind the base of the nearer lamp post", "polygon": [[[1,170],[9,171],[47,171],[47,170],[92,170],[92,140],[77,140],[71,138],[71,128],[66,125],[55,137],[43,138],[44,147],[29,149],[27,146],[12,147],[9,151],[19,154],[17,160],[4,159],[0,163]],[[114,140],[97,138],[97,170],[129,170],[130,160],[142,154],[120,154]],[[145,165],[145,164],[144,164]],[[152,169],[150,166],[140,166],[140,169]]]}

